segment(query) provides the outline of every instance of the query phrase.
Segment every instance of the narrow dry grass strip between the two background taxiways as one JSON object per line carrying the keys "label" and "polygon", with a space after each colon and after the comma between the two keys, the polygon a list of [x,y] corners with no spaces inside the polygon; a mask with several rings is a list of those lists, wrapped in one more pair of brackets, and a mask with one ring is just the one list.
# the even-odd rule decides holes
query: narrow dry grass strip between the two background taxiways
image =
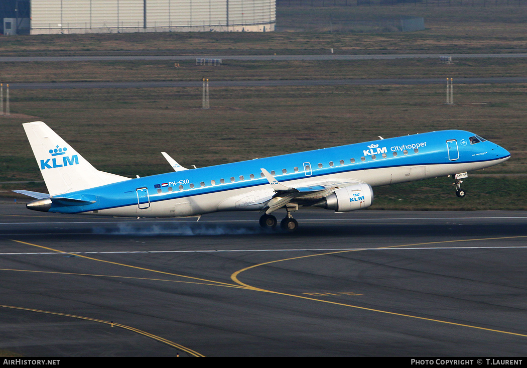
{"label": "narrow dry grass strip between the two background taxiways", "polygon": [[[174,57],[174,62],[178,61]],[[53,81],[200,81],[342,79],[342,78],[469,78],[524,76],[527,59],[436,59],[365,61],[233,61],[221,66],[199,66],[193,61],[26,62],[3,63],[0,80]]]}

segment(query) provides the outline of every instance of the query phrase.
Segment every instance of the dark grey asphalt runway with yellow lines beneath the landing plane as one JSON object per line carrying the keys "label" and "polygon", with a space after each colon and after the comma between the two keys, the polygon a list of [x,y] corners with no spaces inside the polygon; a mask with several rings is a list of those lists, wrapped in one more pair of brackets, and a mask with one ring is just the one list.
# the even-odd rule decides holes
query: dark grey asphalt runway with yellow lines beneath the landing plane
{"label": "dark grey asphalt runway with yellow lines beneath the landing plane", "polygon": [[[124,219],[0,205],[0,347],[25,356],[523,356],[527,214]],[[111,323],[113,322],[113,327]]]}

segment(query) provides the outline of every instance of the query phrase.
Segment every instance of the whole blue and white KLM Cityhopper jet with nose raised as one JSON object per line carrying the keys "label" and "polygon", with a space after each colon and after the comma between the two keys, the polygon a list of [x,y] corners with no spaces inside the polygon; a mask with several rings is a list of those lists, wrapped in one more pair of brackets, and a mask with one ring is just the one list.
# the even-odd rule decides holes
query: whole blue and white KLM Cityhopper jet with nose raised
{"label": "whole blue and white KLM Cityhopper jet with nose raised", "polygon": [[95,169],[41,121],[24,129],[49,194],[27,208],[128,217],[185,217],[216,211],[260,211],[260,225],[295,231],[291,212],[315,206],[337,212],[372,205],[372,187],[452,175],[464,197],[467,171],[504,162],[510,153],[462,130],[445,130],[349,144],[188,170],[163,153],[174,172],[130,179]]}

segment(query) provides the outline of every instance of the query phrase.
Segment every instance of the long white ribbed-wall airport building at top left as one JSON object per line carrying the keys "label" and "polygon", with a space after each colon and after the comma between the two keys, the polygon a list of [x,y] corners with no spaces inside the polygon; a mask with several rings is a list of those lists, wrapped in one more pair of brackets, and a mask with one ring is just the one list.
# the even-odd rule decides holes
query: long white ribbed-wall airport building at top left
{"label": "long white ribbed-wall airport building at top left", "polygon": [[25,1],[31,34],[269,32],[276,24],[276,0]]}

